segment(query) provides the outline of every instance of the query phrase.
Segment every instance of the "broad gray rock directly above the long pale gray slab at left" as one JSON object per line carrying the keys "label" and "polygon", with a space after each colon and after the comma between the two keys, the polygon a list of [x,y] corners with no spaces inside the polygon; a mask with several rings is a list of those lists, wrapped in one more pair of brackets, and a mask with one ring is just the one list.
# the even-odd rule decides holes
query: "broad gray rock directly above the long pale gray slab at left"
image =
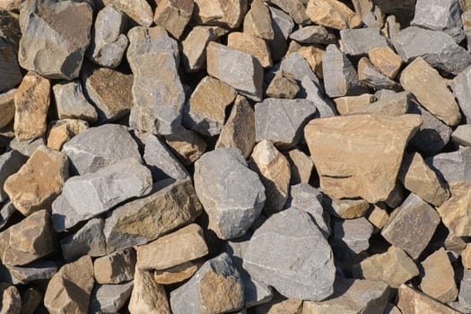
{"label": "broad gray rock directly above the long pale gray slab at left", "polygon": [[75,135],[64,144],[62,152],[81,175],[128,158],[141,161],[137,144],[126,127],[112,124],[91,127]]}

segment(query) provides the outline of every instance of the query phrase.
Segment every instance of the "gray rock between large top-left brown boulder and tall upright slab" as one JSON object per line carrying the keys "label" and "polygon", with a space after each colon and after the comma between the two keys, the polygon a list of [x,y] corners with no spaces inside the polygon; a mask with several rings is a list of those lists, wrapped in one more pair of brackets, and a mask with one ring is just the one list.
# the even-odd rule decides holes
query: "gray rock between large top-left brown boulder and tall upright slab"
{"label": "gray rock between large top-left brown boulder and tall upright slab", "polygon": [[97,14],[87,57],[97,65],[117,67],[129,43],[124,34],[126,29],[126,14],[120,12],[112,3],[105,6]]}

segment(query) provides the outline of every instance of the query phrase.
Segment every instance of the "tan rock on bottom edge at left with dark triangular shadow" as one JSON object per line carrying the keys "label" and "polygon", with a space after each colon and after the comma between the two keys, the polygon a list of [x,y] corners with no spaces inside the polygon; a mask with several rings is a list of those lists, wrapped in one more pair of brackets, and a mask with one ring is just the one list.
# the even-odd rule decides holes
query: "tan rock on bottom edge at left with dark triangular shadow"
{"label": "tan rock on bottom edge at left with dark triangular shadow", "polygon": [[44,305],[51,314],[87,313],[93,288],[93,264],[89,256],[62,266],[48,283]]}

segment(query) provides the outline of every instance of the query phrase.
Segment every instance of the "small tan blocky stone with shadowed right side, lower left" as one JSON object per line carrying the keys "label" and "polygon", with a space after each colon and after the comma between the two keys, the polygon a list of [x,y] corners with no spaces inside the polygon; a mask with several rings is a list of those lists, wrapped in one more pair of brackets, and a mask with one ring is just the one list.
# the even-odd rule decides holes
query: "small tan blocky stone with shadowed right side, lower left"
{"label": "small tan blocky stone with shadowed right side, lower left", "polygon": [[118,284],[133,280],[135,275],[135,249],[124,249],[93,262],[95,280],[100,284]]}

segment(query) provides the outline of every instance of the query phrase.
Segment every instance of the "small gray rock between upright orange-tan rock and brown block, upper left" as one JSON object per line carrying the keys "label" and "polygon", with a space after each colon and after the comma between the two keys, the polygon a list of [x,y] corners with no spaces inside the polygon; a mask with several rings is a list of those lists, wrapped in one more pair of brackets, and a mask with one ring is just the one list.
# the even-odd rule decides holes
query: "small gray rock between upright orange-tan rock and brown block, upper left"
{"label": "small gray rock between upright orange-tan rock and brown block, upper left", "polygon": [[52,87],[59,119],[79,118],[96,121],[97,110],[83,95],[82,84],[78,81],[57,83]]}

